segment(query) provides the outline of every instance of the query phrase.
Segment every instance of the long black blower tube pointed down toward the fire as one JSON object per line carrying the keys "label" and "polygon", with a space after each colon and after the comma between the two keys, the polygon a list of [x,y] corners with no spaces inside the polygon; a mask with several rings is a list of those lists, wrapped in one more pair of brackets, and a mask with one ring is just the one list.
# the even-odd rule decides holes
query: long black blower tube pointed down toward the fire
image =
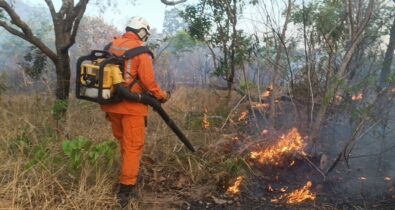
{"label": "long black blower tube pointed down toward the fire", "polygon": [[165,123],[170,127],[170,129],[177,135],[177,137],[184,143],[184,145],[192,152],[195,152],[191,142],[187,139],[187,137],[182,133],[182,131],[177,127],[172,119],[170,119],[169,115],[165,112],[162,108],[161,103],[148,94],[138,94],[138,93],[131,93],[127,87],[123,85],[117,85],[117,93],[121,95],[122,98],[132,101],[132,102],[139,102],[143,104],[150,105],[158,114],[159,116],[165,121]]}

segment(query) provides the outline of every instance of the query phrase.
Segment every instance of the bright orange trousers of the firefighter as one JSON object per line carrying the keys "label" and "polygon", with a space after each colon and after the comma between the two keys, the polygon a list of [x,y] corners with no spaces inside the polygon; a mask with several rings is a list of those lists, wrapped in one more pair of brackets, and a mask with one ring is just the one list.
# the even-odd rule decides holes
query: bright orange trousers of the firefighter
{"label": "bright orange trousers of the firefighter", "polygon": [[120,183],[134,185],[140,169],[145,141],[145,116],[123,115],[107,112],[114,137],[121,146],[122,164]]}

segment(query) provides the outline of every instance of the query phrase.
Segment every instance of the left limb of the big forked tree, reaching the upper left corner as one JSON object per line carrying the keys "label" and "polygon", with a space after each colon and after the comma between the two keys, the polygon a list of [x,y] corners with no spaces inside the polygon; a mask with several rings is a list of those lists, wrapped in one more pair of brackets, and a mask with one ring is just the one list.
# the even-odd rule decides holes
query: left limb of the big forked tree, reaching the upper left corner
{"label": "left limb of the big forked tree, reaching the upper left corner", "polygon": [[4,21],[0,22],[0,26],[2,26],[8,32],[35,45],[52,61],[56,61],[56,54],[50,48],[48,48],[38,37],[34,36],[30,27],[18,16],[18,14],[16,14],[16,12],[5,0],[0,0],[0,8],[3,8],[7,12],[7,14],[11,17],[11,23],[18,26],[18,28],[20,28],[22,32],[8,25]]}

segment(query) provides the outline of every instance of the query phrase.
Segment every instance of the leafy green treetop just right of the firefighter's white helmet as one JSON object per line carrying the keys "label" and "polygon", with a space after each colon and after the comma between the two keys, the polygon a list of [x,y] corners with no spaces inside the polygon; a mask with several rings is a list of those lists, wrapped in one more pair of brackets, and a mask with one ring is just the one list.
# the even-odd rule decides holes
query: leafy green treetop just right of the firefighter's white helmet
{"label": "leafy green treetop just right of the firefighter's white helmet", "polygon": [[[223,77],[229,90],[234,84],[236,68],[242,65],[245,56],[245,46],[242,46],[247,43],[245,35],[237,29],[244,4],[243,0],[203,0],[181,12],[189,25],[189,34],[210,49],[214,75]],[[221,50],[219,56],[215,48]]]}

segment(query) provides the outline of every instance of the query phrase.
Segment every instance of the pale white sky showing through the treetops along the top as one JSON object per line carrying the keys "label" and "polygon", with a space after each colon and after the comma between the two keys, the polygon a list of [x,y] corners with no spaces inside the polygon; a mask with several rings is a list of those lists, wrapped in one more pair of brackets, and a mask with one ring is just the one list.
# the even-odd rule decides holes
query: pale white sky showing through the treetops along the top
{"label": "pale white sky showing through the treetops along the top", "polygon": [[[44,0],[16,0],[24,1],[28,4],[41,5],[47,8]],[[52,0],[55,5],[55,9],[59,9],[62,0]],[[78,0],[74,0],[78,2]],[[117,6],[103,7],[103,11],[99,10],[99,6],[94,5],[94,2],[102,2],[106,5],[108,1],[116,2]],[[90,0],[88,4],[85,15],[88,16],[100,16],[103,17],[105,22],[108,24],[116,26],[120,31],[123,31],[127,20],[132,16],[141,16],[148,20],[152,28],[157,29],[158,32],[162,31],[164,13],[166,9],[171,9],[173,7],[182,8],[187,4],[196,3],[197,0],[187,0],[187,2],[178,4],[176,6],[167,6],[163,4],[160,0],[135,0],[135,4],[130,3],[132,0]],[[278,3],[275,6],[278,8],[272,8],[273,11],[269,11],[271,18],[274,22],[282,23],[283,17],[281,16],[281,11],[284,6],[282,3]],[[246,30],[249,33],[262,33],[267,30],[267,28],[262,24],[265,17],[262,16],[264,12],[259,6],[247,7],[244,11],[243,18],[239,20],[239,28]],[[282,24],[278,25],[280,27]]]}

